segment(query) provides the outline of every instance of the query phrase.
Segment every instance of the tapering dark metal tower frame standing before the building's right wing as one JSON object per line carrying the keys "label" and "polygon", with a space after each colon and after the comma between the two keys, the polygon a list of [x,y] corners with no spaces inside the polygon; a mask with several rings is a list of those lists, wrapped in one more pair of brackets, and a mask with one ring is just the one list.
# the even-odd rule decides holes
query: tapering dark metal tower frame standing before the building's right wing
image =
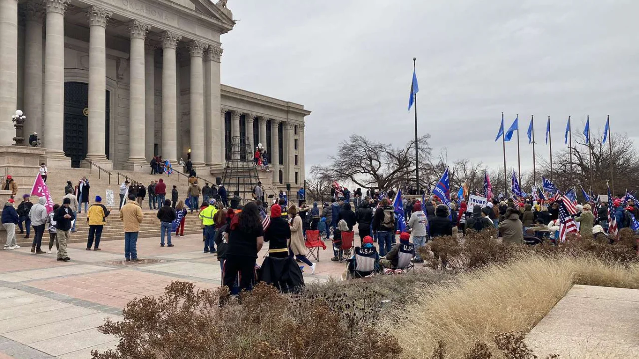
{"label": "tapering dark metal tower frame standing before the building's right wing", "polygon": [[[231,150],[222,172],[222,185],[233,200],[245,202],[252,199],[253,188],[258,185],[258,168],[253,161],[254,149],[248,137],[233,136]],[[238,201],[239,200],[239,201]]]}

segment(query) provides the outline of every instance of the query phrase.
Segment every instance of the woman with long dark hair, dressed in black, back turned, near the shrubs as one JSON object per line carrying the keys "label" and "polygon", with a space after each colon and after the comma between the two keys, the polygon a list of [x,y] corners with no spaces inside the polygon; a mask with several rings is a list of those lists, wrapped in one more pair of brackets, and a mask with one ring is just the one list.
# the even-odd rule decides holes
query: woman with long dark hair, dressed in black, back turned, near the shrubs
{"label": "woman with long dark hair, dressed in black, back turned, near the shrubs", "polygon": [[258,206],[247,203],[238,215],[233,217],[224,234],[228,246],[222,270],[224,286],[233,289],[235,277],[240,273],[240,290],[250,290],[255,282],[255,260],[264,243],[264,231],[259,218]]}

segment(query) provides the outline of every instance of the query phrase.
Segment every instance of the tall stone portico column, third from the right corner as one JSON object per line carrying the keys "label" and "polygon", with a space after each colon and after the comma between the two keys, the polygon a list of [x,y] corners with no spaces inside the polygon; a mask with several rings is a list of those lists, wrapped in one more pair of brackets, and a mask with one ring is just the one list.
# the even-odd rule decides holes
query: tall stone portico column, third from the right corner
{"label": "tall stone portico column, third from the right corner", "polygon": [[176,121],[178,96],[176,86],[175,48],[182,36],[166,31],[162,34],[162,158],[178,163]]}

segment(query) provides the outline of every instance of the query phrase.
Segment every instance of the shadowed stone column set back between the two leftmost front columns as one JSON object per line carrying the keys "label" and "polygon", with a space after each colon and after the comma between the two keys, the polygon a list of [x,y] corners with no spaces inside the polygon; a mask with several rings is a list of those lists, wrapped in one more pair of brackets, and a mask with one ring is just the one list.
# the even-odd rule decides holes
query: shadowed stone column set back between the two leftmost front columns
{"label": "shadowed stone column set back between the two leftmost front columns", "polygon": [[[42,137],[42,24],[44,8],[40,3],[27,3],[27,20],[24,46],[24,137],[38,132]],[[26,142],[25,142],[26,143]]]}

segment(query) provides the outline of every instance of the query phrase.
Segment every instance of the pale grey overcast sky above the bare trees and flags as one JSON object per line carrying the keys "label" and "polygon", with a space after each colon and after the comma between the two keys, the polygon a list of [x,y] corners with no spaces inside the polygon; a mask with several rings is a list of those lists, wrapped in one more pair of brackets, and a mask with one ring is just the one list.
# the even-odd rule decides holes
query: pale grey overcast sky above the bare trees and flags
{"label": "pale grey overcast sky above the bare trees and flags", "polygon": [[[238,20],[222,36],[222,83],[301,103],[305,165],[325,164],[353,132],[403,145],[413,57],[419,132],[433,152],[502,166],[495,135],[520,116],[522,168],[532,167],[526,130],[535,116],[537,157],[547,116],[555,149],[567,116],[573,133],[639,139],[637,0],[229,0]],[[513,137],[513,139],[516,139]],[[516,141],[506,144],[516,166]]]}

